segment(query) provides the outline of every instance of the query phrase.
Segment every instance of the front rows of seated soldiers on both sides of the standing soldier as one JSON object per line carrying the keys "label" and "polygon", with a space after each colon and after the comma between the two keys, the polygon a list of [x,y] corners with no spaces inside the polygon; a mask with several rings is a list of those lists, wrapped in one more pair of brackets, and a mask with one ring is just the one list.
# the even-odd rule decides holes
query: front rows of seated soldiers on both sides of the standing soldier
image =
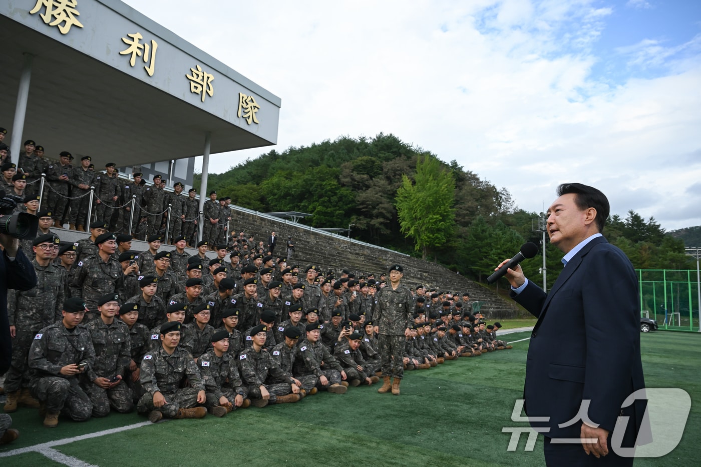
{"label": "front rows of seated soldiers on both sides of the standing soldier", "polygon": [[[98,311],[99,318],[85,324],[86,303],[68,299],[61,319],[32,339],[28,391],[15,404],[39,406],[44,426],[57,426],[61,414],[84,421],[134,408],[153,422],[202,418],[207,412],[224,417],[251,404],[298,402],[318,391],[343,394],[349,386],[379,381],[376,328],[362,316],[341,321],[336,312],[331,323],[322,324],[317,309],[304,311],[301,318],[299,306],[290,320],[276,323],[278,316],[264,309],[259,324],[241,332],[240,309],[227,308],[215,329],[209,303],[172,301],[166,322],[151,330],[139,323],[139,304],[120,306],[118,295],[100,297]],[[191,322],[184,323],[188,318]],[[417,313],[407,337],[402,356],[407,370],[479,355],[479,349],[505,348],[489,331],[474,343],[448,337],[456,335],[456,325],[449,324],[452,316],[422,322],[425,318]],[[482,335],[478,329],[484,323],[475,316],[465,318]],[[446,324],[451,326],[448,334]],[[332,334],[334,341],[324,338],[329,328],[339,329]],[[6,412],[17,406],[9,409],[6,405]]]}

